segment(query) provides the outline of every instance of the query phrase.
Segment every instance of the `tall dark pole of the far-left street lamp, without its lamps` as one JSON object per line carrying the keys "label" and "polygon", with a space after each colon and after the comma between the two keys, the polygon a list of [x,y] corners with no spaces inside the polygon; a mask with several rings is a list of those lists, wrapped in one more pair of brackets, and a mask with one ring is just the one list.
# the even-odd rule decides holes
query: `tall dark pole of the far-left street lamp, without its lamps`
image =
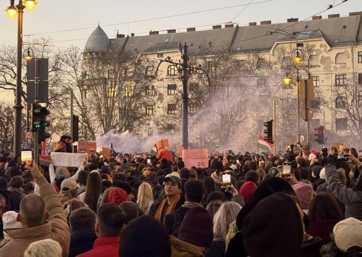
{"label": "tall dark pole of the far-left street lamp, without its lamps", "polygon": [[16,58],[16,91],[14,108],[14,156],[20,154],[21,147],[21,65],[22,65],[22,22],[23,10],[22,1],[16,5],[18,9],[18,34],[17,34],[17,58]]}

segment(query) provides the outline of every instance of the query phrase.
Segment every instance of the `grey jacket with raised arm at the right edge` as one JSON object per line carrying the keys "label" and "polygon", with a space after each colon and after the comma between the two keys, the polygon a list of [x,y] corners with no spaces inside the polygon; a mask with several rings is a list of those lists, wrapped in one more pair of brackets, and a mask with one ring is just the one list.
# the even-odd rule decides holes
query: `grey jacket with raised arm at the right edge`
{"label": "grey jacket with raised arm at the right edge", "polygon": [[[359,171],[362,166],[359,167]],[[333,194],[345,204],[345,219],[353,217],[362,221],[362,192],[348,189],[339,179],[336,168],[329,164],[325,168],[327,183]]]}

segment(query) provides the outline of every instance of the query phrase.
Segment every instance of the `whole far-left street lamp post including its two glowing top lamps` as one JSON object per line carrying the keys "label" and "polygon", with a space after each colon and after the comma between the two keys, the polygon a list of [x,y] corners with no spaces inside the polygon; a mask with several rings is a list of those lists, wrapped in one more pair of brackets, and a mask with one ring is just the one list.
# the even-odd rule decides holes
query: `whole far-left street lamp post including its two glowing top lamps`
{"label": "whole far-left street lamp post including its two glowing top lamps", "polygon": [[25,7],[29,10],[34,8],[37,4],[35,0],[19,0],[19,3],[14,6],[14,0],[10,0],[10,6],[5,10],[10,18],[14,18],[18,14],[18,30],[17,30],[17,56],[16,56],[16,91],[15,91],[15,105],[14,108],[14,156],[20,154],[21,144],[21,65],[22,65],[22,25],[23,13]]}

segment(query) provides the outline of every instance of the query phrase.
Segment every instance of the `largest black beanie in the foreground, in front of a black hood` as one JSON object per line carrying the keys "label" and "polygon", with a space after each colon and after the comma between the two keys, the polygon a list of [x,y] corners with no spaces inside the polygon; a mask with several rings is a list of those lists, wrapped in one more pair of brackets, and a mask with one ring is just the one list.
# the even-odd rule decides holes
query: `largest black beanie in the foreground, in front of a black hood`
{"label": "largest black beanie in the foreground, in front of a black hood", "polygon": [[243,237],[249,256],[299,256],[303,226],[294,201],[284,193],[261,200],[244,219]]}

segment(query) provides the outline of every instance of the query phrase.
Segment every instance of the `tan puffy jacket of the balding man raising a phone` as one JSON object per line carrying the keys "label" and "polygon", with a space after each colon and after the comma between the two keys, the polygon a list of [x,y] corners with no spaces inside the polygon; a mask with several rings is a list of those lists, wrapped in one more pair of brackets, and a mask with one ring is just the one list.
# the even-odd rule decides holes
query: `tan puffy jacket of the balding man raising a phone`
{"label": "tan puffy jacket of the balding man raising a phone", "polygon": [[40,196],[44,199],[46,210],[50,213],[47,222],[40,226],[20,229],[5,229],[12,238],[0,249],[0,257],[12,256],[22,257],[28,246],[38,240],[53,239],[62,247],[62,256],[67,257],[70,243],[70,230],[67,217],[60,204],[60,198],[54,187],[49,184],[45,177],[37,179]]}

